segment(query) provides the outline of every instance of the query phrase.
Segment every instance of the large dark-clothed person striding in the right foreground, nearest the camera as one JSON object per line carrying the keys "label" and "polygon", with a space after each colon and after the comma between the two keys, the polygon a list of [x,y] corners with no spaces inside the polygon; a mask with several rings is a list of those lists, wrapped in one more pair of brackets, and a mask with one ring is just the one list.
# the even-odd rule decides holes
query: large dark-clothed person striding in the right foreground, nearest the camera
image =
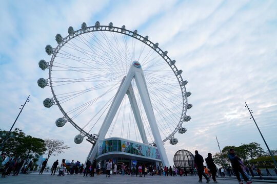
{"label": "large dark-clothed person striding in the right foreground, nearest the camera", "polygon": [[228,157],[229,157],[229,159],[230,159],[230,161],[231,161],[233,170],[234,170],[234,172],[235,172],[235,176],[236,176],[236,178],[239,180],[239,183],[240,183],[240,184],[243,183],[242,180],[241,180],[241,177],[240,177],[240,174],[239,174],[239,173],[241,173],[241,175],[243,176],[243,179],[246,181],[246,184],[251,183],[252,180],[249,181],[248,178],[247,178],[247,176],[244,174],[244,172],[243,172],[243,170],[242,170],[242,168],[241,168],[240,162],[239,162],[239,160],[238,160],[238,155],[235,155],[235,154],[234,154],[234,149],[231,148],[231,149],[229,150]]}

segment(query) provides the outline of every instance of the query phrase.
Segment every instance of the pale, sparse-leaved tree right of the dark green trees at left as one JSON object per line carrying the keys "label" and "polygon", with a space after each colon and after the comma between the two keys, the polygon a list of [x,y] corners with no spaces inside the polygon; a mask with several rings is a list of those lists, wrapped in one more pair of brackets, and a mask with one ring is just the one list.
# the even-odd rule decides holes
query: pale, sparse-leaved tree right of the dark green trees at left
{"label": "pale, sparse-leaved tree right of the dark green trees at left", "polygon": [[45,139],[46,149],[47,149],[47,159],[53,154],[54,156],[64,153],[65,149],[68,149],[67,145],[64,146],[64,142],[61,140],[54,140],[54,139]]}

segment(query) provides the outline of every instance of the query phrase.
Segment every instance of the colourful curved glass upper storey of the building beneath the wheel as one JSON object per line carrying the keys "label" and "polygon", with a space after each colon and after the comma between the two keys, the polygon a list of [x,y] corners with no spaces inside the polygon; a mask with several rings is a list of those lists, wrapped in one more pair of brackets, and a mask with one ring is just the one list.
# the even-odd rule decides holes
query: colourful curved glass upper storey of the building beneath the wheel
{"label": "colourful curved glass upper storey of the building beneath the wheel", "polygon": [[104,140],[98,144],[98,156],[109,152],[125,152],[149,158],[161,159],[157,148],[123,140]]}

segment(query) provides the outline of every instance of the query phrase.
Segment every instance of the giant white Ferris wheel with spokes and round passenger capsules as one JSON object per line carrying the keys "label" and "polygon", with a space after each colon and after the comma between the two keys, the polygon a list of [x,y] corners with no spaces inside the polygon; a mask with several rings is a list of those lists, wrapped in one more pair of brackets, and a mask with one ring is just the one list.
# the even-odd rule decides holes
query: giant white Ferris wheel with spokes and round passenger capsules
{"label": "giant white Ferris wheel with spokes and round passenger capsules", "polygon": [[[83,22],[76,31],[69,27],[68,34],[57,34],[57,47],[45,48],[50,61],[38,62],[43,71],[49,70],[49,78],[39,78],[37,84],[42,88],[49,86],[53,95],[43,104],[48,108],[57,105],[63,113],[56,126],[70,123],[75,127],[76,144],[87,137],[95,145],[104,129],[106,137],[125,137],[154,146],[156,129],[162,143],[169,140],[170,144],[177,144],[174,134],[185,133],[183,124],[191,119],[186,114],[192,107],[187,103],[191,93],[186,91],[188,82],[181,76],[183,71],[177,70],[176,61],[169,58],[168,52],[137,30],[114,27],[112,22],[101,26],[96,21],[91,27]],[[140,80],[135,74],[141,76],[137,77]],[[124,85],[127,91],[115,102]],[[148,101],[151,108],[147,110]],[[152,120],[149,110],[153,111]],[[114,114],[107,126],[110,113]],[[152,127],[152,121],[157,126]]]}

